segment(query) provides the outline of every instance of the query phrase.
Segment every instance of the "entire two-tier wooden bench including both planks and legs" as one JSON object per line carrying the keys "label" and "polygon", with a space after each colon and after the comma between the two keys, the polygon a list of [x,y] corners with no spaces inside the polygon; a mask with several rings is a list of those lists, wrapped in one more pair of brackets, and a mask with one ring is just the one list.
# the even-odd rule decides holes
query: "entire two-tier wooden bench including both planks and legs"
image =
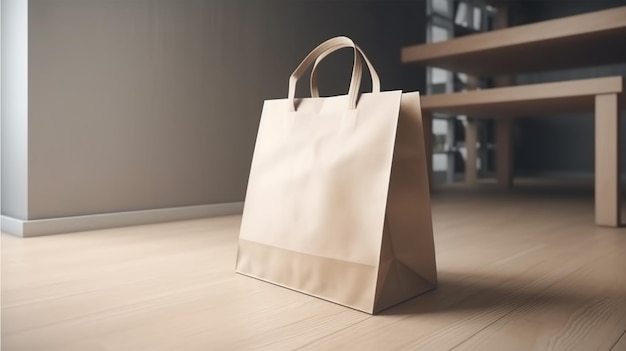
{"label": "entire two-tier wooden bench including both planks and legs", "polygon": [[[566,69],[626,62],[626,6],[527,25],[506,27],[507,8],[500,4],[497,30],[448,41],[402,48],[402,62],[475,76]],[[496,77],[509,85],[509,77]],[[498,79],[504,78],[504,79]],[[508,82],[508,83],[507,83]],[[618,226],[618,130],[621,77],[575,80],[528,86],[423,96],[426,115],[449,112],[496,119],[498,184],[511,185],[511,119],[535,113],[595,111],[596,223]],[[622,105],[623,106],[623,105]],[[428,119],[427,119],[428,120]],[[476,180],[476,124],[466,128],[466,176]],[[429,144],[430,145],[430,144]]]}

